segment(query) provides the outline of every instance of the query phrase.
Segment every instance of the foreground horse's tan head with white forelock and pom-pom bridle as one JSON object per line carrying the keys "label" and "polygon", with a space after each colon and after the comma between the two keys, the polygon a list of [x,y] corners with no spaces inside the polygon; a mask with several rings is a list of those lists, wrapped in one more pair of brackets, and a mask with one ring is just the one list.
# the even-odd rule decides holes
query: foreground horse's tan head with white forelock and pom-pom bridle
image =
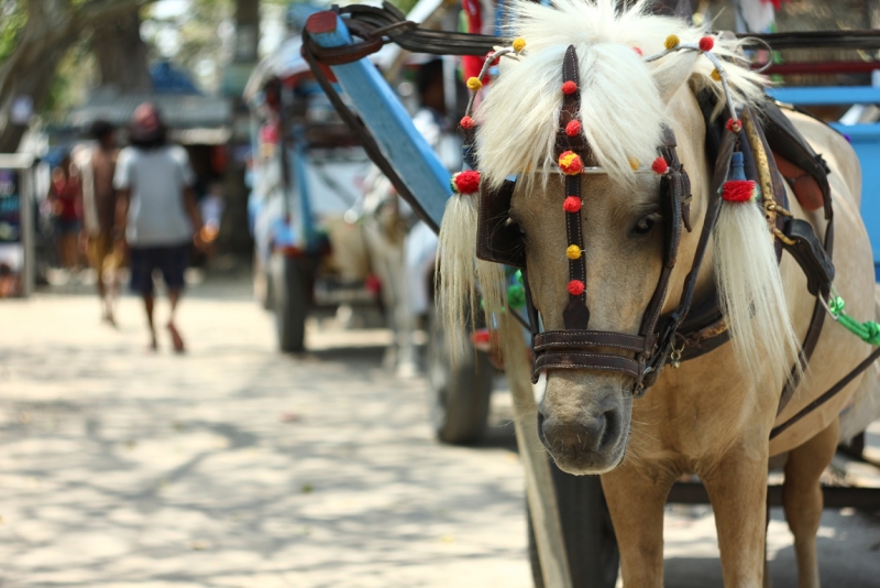
{"label": "foreground horse's tan head with white forelock and pom-pom bridle", "polygon": [[[648,15],[645,7],[517,3],[515,33],[528,50],[502,62],[474,117],[482,197],[492,198],[517,176],[507,218],[496,220],[520,231],[516,247],[525,253],[539,322],[532,325],[536,375],[546,375],[539,435],[572,473],[608,471],[627,454],[634,400],[656,381],[674,346],[670,316],[681,309],[695,259],[705,264],[694,273],[693,296],[716,284],[723,290],[745,371],[759,362],[756,353],[769,353],[784,369],[796,353],[758,207],[757,221],[754,215],[750,225],[724,220],[700,249],[715,162],[706,161],[694,92],[707,89],[719,104],[755,104],[758,78],[739,65],[734,43]],[[689,41],[701,51],[714,45],[725,59],[726,92],[715,62],[701,58],[701,51],[670,52]],[[662,59],[644,58],[664,51]],[[574,86],[572,67],[579,72]],[[560,153],[564,134],[578,139],[573,152]],[[748,252],[735,249],[736,239]],[[441,255],[453,249],[441,237]],[[746,253],[748,268],[737,260]],[[452,261],[443,257],[441,270]],[[493,274],[481,282],[490,309],[504,305],[491,300],[501,288],[486,287],[496,280]],[[669,325],[671,334],[663,333]]]}

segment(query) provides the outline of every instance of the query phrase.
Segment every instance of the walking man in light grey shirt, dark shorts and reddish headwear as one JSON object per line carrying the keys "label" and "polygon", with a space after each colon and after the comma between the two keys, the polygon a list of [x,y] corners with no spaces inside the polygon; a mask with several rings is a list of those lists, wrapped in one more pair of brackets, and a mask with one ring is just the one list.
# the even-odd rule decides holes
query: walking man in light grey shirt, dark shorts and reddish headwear
{"label": "walking man in light grey shirt, dark shorts and reddish headwear", "polygon": [[134,110],[131,145],[119,153],[113,185],[119,190],[117,237],[129,247],[131,288],[141,295],[150,326],[150,348],[157,349],[153,322],[153,272],[162,272],[168,288],[167,329],[174,350],[184,339],[175,324],[184,290],[189,248],[200,243],[201,219],[193,185],[196,176],[184,148],[168,144],[156,108],[143,104]]}

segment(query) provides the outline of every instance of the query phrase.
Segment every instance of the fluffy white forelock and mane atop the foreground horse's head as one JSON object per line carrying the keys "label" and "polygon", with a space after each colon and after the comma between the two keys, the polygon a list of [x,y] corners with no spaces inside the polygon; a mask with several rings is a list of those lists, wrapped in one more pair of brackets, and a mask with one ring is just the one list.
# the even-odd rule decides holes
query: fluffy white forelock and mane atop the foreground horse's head
{"label": "fluffy white forelock and mane atop the foreground horse's head", "polygon": [[[501,75],[476,112],[477,144],[484,181],[497,187],[512,174],[535,172],[547,181],[544,162],[554,162],[554,142],[562,108],[562,61],[569,45],[579,57],[581,122],[600,165],[612,178],[628,184],[629,162],[650,165],[657,156],[666,105],[654,81],[667,69],[685,66],[693,81],[713,88],[714,66],[691,52],[673,53],[653,63],[644,55],[663,51],[669,35],[683,43],[696,42],[705,32],[683,21],[646,12],[639,0],[624,10],[615,0],[554,0],[552,7],[528,0],[510,4],[509,37],[527,45],[518,61],[503,58]],[[713,53],[734,56],[736,42],[715,40]],[[726,62],[734,99],[751,104],[760,99],[761,76]],[[544,170],[541,172],[541,170]]]}

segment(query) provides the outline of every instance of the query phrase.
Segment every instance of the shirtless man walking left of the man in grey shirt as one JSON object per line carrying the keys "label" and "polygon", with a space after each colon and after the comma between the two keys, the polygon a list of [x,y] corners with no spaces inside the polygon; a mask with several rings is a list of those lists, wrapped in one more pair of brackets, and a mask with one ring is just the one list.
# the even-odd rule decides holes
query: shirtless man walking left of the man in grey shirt
{"label": "shirtless man walking left of the man in grey shirt", "polygon": [[[117,166],[116,128],[107,121],[96,120],[90,133],[98,144],[77,153],[76,163],[82,181],[82,203],[86,232],[88,233],[89,262],[98,274],[98,296],[103,319],[116,325],[113,301],[119,290],[118,269],[121,252],[113,247],[117,192],[113,173]],[[105,282],[109,275],[110,286]]]}

